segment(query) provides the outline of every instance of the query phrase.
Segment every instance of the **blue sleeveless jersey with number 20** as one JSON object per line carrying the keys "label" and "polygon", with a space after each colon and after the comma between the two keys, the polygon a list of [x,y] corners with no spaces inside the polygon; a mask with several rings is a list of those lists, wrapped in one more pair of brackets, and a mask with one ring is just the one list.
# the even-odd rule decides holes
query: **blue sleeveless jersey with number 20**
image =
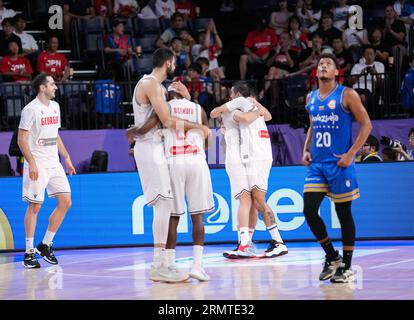
{"label": "blue sleeveless jersey with number 20", "polygon": [[313,122],[313,162],[337,162],[334,154],[346,153],[352,146],[353,116],[342,104],[345,89],[337,84],[324,99],[319,90],[310,93],[306,110]]}

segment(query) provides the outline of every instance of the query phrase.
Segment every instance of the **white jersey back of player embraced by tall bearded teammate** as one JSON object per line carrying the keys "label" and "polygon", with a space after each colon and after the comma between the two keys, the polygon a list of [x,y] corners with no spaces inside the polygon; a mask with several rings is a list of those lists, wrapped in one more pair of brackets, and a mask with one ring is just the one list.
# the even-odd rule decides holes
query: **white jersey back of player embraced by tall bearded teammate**
{"label": "white jersey back of player embraced by tall bearded teammate", "polygon": [[[169,102],[172,116],[202,124],[201,106],[187,99],[173,99]],[[205,159],[204,138],[199,130],[185,132],[184,128],[164,130],[164,146],[167,158],[179,156],[200,156]]]}

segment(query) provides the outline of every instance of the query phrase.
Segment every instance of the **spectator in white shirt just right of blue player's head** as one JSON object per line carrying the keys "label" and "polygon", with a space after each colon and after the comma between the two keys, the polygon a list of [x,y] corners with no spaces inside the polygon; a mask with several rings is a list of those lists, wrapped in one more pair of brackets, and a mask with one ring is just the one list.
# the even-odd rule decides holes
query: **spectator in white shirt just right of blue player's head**
{"label": "spectator in white shirt just right of blue player's head", "polygon": [[371,45],[364,49],[364,59],[351,70],[351,85],[359,93],[365,107],[371,107],[372,93],[383,79],[384,64],[375,61],[376,50]]}

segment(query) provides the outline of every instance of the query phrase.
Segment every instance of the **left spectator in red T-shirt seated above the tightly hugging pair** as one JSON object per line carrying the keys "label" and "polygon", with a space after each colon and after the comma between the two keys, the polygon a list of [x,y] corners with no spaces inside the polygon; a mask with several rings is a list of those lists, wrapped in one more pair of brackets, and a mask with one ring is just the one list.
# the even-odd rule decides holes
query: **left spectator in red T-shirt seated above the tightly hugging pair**
{"label": "left spectator in red T-shirt seated above the tightly hugging pair", "polygon": [[248,64],[255,69],[265,69],[266,60],[269,53],[277,44],[277,36],[275,32],[266,27],[266,23],[262,19],[258,19],[255,29],[247,34],[244,42],[244,52],[240,57],[240,79],[246,78]]}

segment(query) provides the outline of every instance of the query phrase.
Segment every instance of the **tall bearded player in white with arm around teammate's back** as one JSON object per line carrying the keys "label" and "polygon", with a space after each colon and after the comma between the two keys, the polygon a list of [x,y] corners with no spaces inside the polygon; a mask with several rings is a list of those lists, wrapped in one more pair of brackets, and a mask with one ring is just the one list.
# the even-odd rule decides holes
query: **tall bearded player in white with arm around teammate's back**
{"label": "tall bearded player in white with arm around teammate's back", "polygon": [[133,108],[135,126],[127,130],[128,139],[135,139],[134,156],[146,202],[154,208],[154,262],[150,279],[163,282],[182,282],[188,275],[166,266],[165,244],[167,242],[170,214],[173,209],[173,194],[168,164],[164,153],[162,132],[157,125],[144,135],[139,129],[155,112],[161,124],[167,128],[182,128],[185,131],[198,129],[204,136],[210,134],[208,127],[173,117],[165,99],[165,88],[161,85],[172,77],[175,56],[169,49],[157,49],[153,54],[153,71],[144,76],[134,90]]}

